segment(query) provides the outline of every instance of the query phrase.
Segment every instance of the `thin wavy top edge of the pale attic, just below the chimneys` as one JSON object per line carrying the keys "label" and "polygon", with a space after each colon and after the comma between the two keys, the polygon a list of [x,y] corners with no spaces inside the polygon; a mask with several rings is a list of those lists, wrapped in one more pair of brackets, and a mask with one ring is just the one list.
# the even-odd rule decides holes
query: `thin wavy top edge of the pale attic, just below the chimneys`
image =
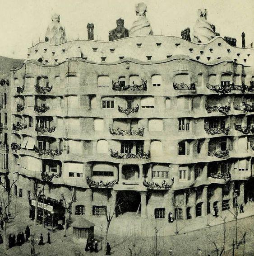
{"label": "thin wavy top edge of the pale attic, just below the chimneys", "polygon": [[[224,38],[222,38],[221,36],[218,36],[218,37],[215,37],[215,38],[212,38],[210,41],[208,41],[207,43],[194,43],[194,42],[190,42],[184,38],[180,38],[180,37],[176,37],[176,36],[169,36],[169,35],[144,35],[144,36],[133,36],[133,37],[126,37],[126,38],[120,38],[120,39],[117,39],[117,40],[114,40],[114,41],[100,41],[100,40],[88,40],[88,39],[78,39],[78,40],[71,40],[71,41],[68,41],[66,43],[70,43],[70,42],[96,42],[96,43],[112,43],[112,42],[117,42],[117,41],[121,41],[121,40],[128,40],[128,38],[140,38],[140,37],[166,37],[166,38],[177,38],[177,39],[181,39],[181,40],[185,40],[189,43],[192,43],[194,45],[208,45],[210,43],[212,43],[213,41],[217,40],[218,38],[221,38],[226,44],[228,44],[229,46],[231,47],[234,47],[234,48],[237,48],[237,49],[248,49],[248,50],[254,50],[254,48],[243,48],[243,47],[237,47],[237,46],[232,46],[231,44],[227,43]],[[63,45],[65,43],[60,43],[60,44],[56,44],[56,45],[53,45],[53,44],[50,44],[50,43],[47,43],[47,42],[39,42],[37,44],[35,44],[34,46],[31,46],[31,47],[28,47],[28,49],[31,49],[33,47],[36,47],[38,44],[41,44],[41,43],[46,43],[47,45],[50,45],[50,46],[53,46],[53,47],[57,47],[57,46],[60,46],[60,45]]]}

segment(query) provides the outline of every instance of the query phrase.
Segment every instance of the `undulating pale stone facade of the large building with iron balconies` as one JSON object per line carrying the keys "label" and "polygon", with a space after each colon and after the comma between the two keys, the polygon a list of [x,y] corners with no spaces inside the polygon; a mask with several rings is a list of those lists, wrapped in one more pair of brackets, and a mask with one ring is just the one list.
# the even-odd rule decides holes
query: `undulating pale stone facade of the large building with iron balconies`
{"label": "undulating pale stone facade of the large building with iron balconies", "polygon": [[88,216],[119,201],[117,215],[143,218],[178,204],[179,219],[253,201],[253,54],[169,36],[29,48],[11,77],[17,189],[54,174],[46,196],[75,190]]}

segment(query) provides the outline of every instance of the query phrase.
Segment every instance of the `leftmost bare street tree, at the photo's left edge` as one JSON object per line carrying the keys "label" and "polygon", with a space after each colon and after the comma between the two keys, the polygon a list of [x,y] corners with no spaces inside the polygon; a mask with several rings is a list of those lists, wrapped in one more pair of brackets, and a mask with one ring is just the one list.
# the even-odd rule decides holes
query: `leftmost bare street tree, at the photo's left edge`
{"label": "leftmost bare street tree, at the photo's left edge", "polygon": [[4,221],[3,240],[4,240],[5,250],[8,250],[6,230],[8,228],[9,220],[12,220],[16,217],[16,200],[14,201],[12,194],[8,193],[7,191],[2,192],[0,194],[0,206],[1,206],[0,216]]}

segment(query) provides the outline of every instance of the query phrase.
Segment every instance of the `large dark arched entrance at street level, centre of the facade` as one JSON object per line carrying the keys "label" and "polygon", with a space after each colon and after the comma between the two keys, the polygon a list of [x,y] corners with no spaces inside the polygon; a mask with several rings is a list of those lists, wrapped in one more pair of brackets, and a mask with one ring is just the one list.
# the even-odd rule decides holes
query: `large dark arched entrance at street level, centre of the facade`
{"label": "large dark arched entrance at street level, centre of the facade", "polygon": [[115,215],[141,211],[141,197],[137,191],[119,191],[116,196]]}

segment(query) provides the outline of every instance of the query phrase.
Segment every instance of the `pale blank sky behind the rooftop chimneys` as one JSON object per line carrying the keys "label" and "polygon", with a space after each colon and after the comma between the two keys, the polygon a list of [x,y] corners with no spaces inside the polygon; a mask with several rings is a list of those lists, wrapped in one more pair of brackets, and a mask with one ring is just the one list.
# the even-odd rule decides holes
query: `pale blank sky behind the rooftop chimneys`
{"label": "pale blank sky behind the rooftop chimneys", "polygon": [[[135,4],[142,0],[0,0],[0,55],[26,58],[32,42],[43,41],[51,15],[60,14],[68,40],[87,39],[87,24],[94,24],[94,39],[108,40],[116,19],[125,19],[130,28],[136,19]],[[222,37],[237,39],[241,33],[246,45],[254,41],[254,0],[143,0],[155,35],[180,37],[192,28],[198,9],[208,10],[208,21]]]}

